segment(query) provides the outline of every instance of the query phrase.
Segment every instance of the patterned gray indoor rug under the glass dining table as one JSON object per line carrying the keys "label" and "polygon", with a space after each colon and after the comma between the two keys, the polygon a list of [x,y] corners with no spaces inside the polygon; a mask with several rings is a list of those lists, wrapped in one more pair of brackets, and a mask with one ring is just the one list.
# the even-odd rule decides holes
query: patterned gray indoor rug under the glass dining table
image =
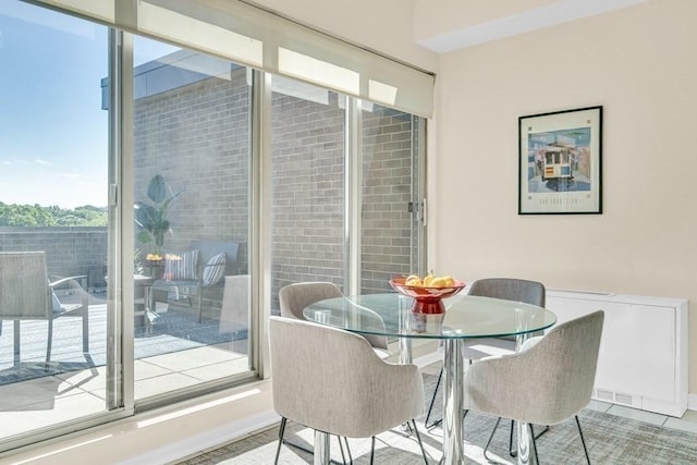
{"label": "patterned gray indoor rug under the glass dining table", "polygon": [[[437,372],[437,371],[436,371]],[[425,375],[425,408],[430,402],[430,394],[437,375]],[[440,397],[440,396],[439,396]],[[440,405],[438,406],[440,408]],[[429,455],[429,463],[436,464],[441,458],[442,430],[440,427],[427,431],[424,417],[417,419],[421,440]],[[697,463],[697,435],[680,430],[662,428],[646,423],[627,419],[603,412],[586,408],[580,412],[579,420],[594,465],[687,465]],[[465,464],[486,464],[482,448],[487,442],[496,418],[474,412],[464,421]],[[515,464],[515,458],[508,454],[510,423],[501,424],[490,446],[490,456],[498,463]],[[289,421],[286,439],[302,443],[311,449],[313,430]],[[351,452],[354,464],[369,463],[370,440],[351,439]],[[247,436],[242,440],[221,445],[219,449],[198,454],[179,465],[212,464],[270,464],[273,463],[278,444],[278,427]],[[541,464],[585,464],[586,457],[578,438],[578,430],[573,419],[554,425],[537,441]],[[331,456],[341,463],[341,454],[337,440],[332,438]],[[298,449],[281,448],[281,464],[308,464],[313,456]],[[394,428],[378,437],[376,464],[406,465],[423,464],[418,444],[413,436],[407,436],[401,428]]]}

